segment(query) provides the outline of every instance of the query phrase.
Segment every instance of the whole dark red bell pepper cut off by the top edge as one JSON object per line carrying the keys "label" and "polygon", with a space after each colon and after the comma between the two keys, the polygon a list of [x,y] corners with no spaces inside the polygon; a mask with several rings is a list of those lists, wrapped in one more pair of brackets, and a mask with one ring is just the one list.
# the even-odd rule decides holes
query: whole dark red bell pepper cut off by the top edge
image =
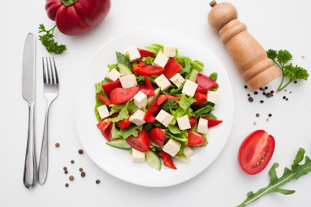
{"label": "whole dark red bell pepper cut off by the top edge", "polygon": [[104,20],[110,0],[46,0],[48,17],[66,35],[81,35]]}

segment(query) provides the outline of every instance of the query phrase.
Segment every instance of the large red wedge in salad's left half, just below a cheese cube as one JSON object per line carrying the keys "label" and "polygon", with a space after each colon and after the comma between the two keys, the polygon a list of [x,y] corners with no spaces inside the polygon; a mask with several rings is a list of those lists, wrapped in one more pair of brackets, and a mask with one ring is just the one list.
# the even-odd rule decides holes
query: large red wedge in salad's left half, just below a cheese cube
{"label": "large red wedge in salad's left half, just below a cheese cube", "polygon": [[115,88],[109,93],[111,104],[125,103],[133,98],[139,90],[139,86],[130,88]]}

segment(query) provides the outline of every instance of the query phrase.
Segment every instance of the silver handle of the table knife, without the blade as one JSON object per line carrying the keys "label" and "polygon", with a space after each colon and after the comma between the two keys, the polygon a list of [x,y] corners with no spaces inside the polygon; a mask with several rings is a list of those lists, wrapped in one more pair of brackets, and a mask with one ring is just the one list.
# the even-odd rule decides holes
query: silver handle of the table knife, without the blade
{"label": "silver handle of the table knife, without the blade", "polygon": [[27,149],[24,166],[24,185],[26,188],[34,188],[37,184],[37,162],[34,136],[34,103],[29,103],[29,125]]}

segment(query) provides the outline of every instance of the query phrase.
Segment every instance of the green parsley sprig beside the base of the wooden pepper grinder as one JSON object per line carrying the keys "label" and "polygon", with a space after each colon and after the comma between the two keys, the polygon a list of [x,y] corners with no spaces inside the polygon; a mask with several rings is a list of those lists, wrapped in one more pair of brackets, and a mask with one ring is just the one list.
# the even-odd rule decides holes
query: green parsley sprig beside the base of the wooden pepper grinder
{"label": "green parsley sprig beside the base of the wooden pepper grinder", "polygon": [[[306,69],[303,69],[297,65],[294,66],[292,63],[286,65],[289,61],[293,60],[292,54],[287,50],[276,51],[269,49],[267,51],[267,55],[268,58],[272,59],[282,71],[282,80],[276,92],[283,90],[286,86],[288,86],[288,84],[297,79],[308,80],[309,73]],[[283,85],[284,77],[288,77],[288,82]]]}

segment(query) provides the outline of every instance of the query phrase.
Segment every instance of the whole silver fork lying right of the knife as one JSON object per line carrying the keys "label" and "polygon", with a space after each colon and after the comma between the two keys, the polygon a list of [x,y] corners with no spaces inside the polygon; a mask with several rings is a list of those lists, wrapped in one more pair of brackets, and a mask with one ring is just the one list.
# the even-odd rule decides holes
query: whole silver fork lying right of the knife
{"label": "whole silver fork lying right of the knife", "polygon": [[54,58],[52,64],[51,57],[49,57],[49,60],[46,57],[45,64],[44,58],[42,57],[42,65],[44,96],[47,100],[47,107],[45,112],[45,122],[38,168],[38,181],[40,184],[44,184],[48,173],[48,122],[50,104],[58,96],[59,93],[58,74]]}

